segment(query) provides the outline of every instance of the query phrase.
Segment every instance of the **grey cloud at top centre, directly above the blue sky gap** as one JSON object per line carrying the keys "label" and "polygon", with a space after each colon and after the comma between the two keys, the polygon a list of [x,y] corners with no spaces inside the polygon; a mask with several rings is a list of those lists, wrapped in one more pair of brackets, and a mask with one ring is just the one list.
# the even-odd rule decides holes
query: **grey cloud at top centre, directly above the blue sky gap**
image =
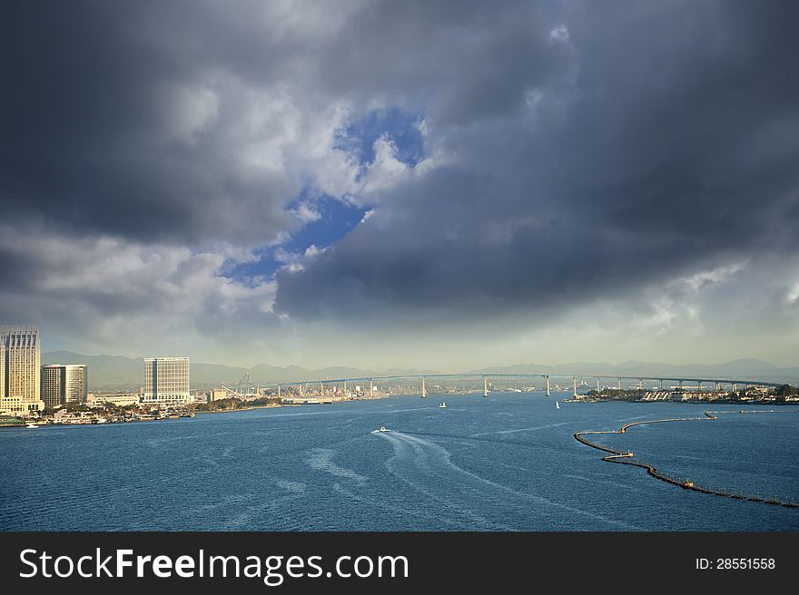
{"label": "grey cloud at top centre, directly above the blue sky gap", "polygon": [[439,124],[501,116],[526,86],[567,73],[542,6],[372,3],[330,41],[317,73],[334,93],[422,108]]}

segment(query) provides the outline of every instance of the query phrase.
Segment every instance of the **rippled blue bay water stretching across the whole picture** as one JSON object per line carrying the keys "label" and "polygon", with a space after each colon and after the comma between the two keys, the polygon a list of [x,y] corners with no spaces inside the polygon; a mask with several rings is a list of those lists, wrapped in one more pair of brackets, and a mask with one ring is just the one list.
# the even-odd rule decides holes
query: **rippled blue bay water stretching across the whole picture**
{"label": "rippled blue bay water stretching across the whole picture", "polygon": [[[0,431],[0,530],[797,531],[799,509],[604,463],[581,430],[734,405],[400,396]],[[799,407],[594,436],[696,483],[799,502]],[[373,434],[385,425],[392,432]]]}

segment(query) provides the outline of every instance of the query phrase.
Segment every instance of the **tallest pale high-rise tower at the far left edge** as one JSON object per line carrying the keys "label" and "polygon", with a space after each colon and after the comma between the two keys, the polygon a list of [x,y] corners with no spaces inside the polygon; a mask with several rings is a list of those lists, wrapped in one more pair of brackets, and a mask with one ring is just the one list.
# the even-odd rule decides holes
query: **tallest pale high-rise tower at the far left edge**
{"label": "tallest pale high-rise tower at the far left edge", "polygon": [[44,408],[40,357],[39,327],[0,327],[0,412],[30,415]]}

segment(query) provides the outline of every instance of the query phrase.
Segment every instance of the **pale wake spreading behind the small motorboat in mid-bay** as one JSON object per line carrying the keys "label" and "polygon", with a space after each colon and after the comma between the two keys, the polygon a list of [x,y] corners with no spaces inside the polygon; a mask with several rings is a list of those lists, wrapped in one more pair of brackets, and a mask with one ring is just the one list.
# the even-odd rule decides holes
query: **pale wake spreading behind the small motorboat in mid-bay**
{"label": "pale wake spreading behind the small motorboat in mid-bay", "polygon": [[[493,482],[453,463],[446,448],[418,436],[401,432],[374,435],[393,447],[394,453],[385,463],[389,472],[409,484],[428,504],[437,502],[439,521],[449,526],[480,531],[524,530],[530,526],[563,530],[575,524],[595,530],[639,529]],[[580,522],[575,522],[575,515],[582,517]],[[590,522],[585,522],[586,518]]]}

